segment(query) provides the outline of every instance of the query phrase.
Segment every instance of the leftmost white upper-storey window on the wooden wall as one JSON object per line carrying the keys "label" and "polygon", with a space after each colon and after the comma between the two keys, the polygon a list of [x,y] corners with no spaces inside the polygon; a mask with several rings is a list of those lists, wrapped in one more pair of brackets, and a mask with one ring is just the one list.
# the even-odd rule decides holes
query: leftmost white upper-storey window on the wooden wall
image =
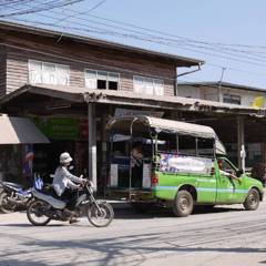
{"label": "leftmost white upper-storey window on the wooden wall", "polygon": [[30,84],[69,85],[69,65],[29,60]]}

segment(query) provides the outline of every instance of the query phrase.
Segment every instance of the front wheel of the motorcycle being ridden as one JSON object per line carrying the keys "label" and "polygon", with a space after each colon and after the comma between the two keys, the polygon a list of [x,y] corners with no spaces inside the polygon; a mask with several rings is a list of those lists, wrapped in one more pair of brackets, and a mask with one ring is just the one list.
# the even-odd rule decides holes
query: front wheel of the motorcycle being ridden
{"label": "front wheel of the motorcycle being ridden", "polygon": [[86,209],[89,222],[95,227],[105,227],[113,221],[113,207],[105,202],[98,202],[96,204],[89,205]]}

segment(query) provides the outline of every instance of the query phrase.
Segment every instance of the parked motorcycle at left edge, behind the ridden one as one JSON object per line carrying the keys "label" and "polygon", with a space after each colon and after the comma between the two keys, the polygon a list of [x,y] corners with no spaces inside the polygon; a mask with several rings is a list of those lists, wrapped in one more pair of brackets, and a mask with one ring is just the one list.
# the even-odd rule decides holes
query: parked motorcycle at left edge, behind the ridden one
{"label": "parked motorcycle at left edge, behind the ridden one", "polygon": [[19,184],[1,182],[0,212],[11,213],[25,208],[31,197],[31,188],[23,190]]}

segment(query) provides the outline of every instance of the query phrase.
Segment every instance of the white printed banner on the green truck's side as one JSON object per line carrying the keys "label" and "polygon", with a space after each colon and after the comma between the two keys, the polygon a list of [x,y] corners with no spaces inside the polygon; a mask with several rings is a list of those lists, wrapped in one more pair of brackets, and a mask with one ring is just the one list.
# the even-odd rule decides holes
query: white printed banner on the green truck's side
{"label": "white printed banner on the green truck's side", "polygon": [[211,174],[212,158],[161,154],[160,171],[168,173]]}

